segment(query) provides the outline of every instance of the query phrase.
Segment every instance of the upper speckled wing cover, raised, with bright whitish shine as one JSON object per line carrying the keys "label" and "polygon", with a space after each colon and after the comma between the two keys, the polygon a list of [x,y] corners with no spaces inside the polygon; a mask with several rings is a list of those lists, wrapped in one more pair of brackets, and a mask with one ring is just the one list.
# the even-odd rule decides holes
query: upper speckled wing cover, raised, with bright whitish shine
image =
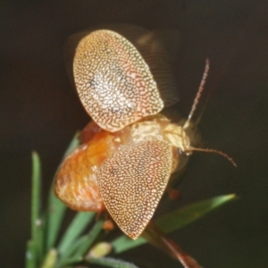
{"label": "upper speckled wing cover, raised, with bright whitish shine", "polygon": [[163,109],[147,63],[112,30],[96,30],[80,40],[73,74],[84,108],[104,130],[121,130]]}

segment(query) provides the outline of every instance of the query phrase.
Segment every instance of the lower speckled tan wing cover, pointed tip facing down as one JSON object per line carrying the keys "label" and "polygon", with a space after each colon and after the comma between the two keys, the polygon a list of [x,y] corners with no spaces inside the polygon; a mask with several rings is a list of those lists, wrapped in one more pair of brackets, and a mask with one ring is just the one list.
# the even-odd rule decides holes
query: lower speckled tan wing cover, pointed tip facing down
{"label": "lower speckled tan wing cover, pointed tip facing down", "polygon": [[97,184],[113,220],[137,239],[155,213],[172,172],[172,146],[143,141],[121,148],[97,173]]}

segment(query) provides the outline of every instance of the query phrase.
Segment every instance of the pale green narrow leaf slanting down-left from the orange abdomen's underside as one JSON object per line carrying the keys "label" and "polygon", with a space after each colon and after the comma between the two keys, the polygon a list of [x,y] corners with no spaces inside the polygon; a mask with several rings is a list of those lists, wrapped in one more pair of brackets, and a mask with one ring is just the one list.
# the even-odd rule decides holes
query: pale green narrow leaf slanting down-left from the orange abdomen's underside
{"label": "pale green narrow leaf slanting down-left from the orange abdomen's underside", "polygon": [[58,250],[60,255],[64,255],[65,251],[71,247],[72,243],[78,239],[80,234],[88,227],[88,224],[93,219],[95,213],[80,212],[76,214],[70,226],[65,231],[63,239],[61,240]]}

